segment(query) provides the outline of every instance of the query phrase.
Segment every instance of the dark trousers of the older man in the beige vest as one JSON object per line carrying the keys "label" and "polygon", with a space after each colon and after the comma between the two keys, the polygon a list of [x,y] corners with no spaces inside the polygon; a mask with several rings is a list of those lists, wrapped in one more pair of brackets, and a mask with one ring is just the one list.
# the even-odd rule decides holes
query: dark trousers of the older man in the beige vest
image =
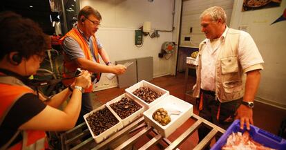
{"label": "dark trousers of the older man in the beige vest", "polygon": [[[220,103],[216,100],[216,95],[213,92],[201,91],[202,97],[198,100],[202,100],[202,110],[199,110],[200,117],[220,126],[222,129],[227,129],[233,120],[235,119],[236,110],[242,100],[233,100],[231,102]],[[198,129],[199,142],[211,131],[206,126],[200,126]],[[209,149],[209,145],[206,149]]]}

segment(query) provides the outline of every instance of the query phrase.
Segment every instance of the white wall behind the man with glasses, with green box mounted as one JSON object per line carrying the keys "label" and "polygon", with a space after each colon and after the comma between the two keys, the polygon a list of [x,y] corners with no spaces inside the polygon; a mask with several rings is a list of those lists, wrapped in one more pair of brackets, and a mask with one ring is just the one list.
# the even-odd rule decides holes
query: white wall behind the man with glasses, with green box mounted
{"label": "white wall behind the man with glasses, with green box mounted", "polygon": [[[81,0],[80,8],[92,6],[102,15],[101,27],[96,35],[107,51],[111,62],[137,57],[153,57],[153,76],[173,74],[175,71],[176,54],[169,60],[158,58],[164,41],[177,42],[178,30],[174,32],[159,32],[160,37],[151,39],[144,37],[141,48],[135,46],[134,30],[140,28],[144,21],[151,21],[151,28],[157,30],[171,30],[173,21],[173,2],[175,0]],[[180,22],[180,2],[175,4],[175,23]],[[178,28],[176,28],[178,29]],[[116,79],[108,81],[102,77],[97,84],[98,89],[117,86]]]}

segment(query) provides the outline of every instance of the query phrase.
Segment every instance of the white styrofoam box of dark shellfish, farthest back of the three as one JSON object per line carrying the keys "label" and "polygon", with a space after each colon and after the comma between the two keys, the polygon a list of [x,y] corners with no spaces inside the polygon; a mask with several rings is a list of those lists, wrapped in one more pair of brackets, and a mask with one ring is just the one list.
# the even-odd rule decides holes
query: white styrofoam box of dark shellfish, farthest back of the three
{"label": "white styrofoam box of dark shellfish, farthest back of the three", "polygon": [[[135,91],[137,88],[140,88],[142,86],[151,88],[156,93],[162,93],[162,95],[158,97],[156,100],[154,100],[153,102],[146,103],[144,100],[142,100],[141,98],[133,94],[133,91]],[[155,104],[163,100],[164,97],[169,95],[169,91],[166,91],[163,88],[160,88],[159,86],[155,86],[154,84],[146,82],[145,80],[142,80],[141,82],[138,82],[137,84],[134,84],[133,86],[130,86],[129,88],[126,88],[125,91],[129,97],[131,97],[133,100],[137,100],[137,102],[142,104],[145,107],[145,110],[149,109],[151,106],[154,106]]]}

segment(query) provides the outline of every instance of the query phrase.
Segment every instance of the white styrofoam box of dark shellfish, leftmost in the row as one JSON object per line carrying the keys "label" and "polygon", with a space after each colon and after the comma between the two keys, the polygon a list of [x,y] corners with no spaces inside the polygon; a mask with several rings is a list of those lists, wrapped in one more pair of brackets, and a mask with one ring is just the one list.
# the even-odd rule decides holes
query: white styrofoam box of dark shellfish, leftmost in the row
{"label": "white styrofoam box of dark shellfish, leftmost in the row", "polygon": [[113,113],[113,115],[115,116],[115,118],[117,118],[117,120],[119,121],[117,124],[115,124],[114,126],[112,126],[111,128],[107,129],[106,131],[100,133],[99,135],[94,135],[93,131],[90,129],[90,126],[86,120],[86,118],[88,118],[88,115],[92,114],[93,112],[95,111],[99,111],[101,109],[104,109],[104,107],[106,107],[108,109],[108,107],[104,104],[102,106],[99,106],[99,108],[93,110],[93,111],[90,111],[89,113],[86,113],[86,115],[84,115],[84,120],[86,121],[86,124],[88,126],[88,129],[91,133],[91,135],[93,135],[93,139],[95,140],[95,142],[99,143],[99,142],[102,142],[102,140],[105,140],[106,138],[109,137],[109,135],[111,135],[112,133],[115,133],[117,131],[119,131],[120,129],[123,128],[123,124],[120,120],[120,118],[113,113],[113,111],[111,111],[110,109],[108,109],[109,111],[111,111],[111,113]]}

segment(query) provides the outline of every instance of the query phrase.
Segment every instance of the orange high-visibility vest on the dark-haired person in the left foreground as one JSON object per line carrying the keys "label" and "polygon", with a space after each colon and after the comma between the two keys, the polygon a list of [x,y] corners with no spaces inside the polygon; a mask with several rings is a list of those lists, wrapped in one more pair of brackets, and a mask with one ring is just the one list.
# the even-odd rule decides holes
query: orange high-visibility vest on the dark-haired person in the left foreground
{"label": "orange high-visibility vest on the dark-haired person in the left foreground", "polygon": [[[0,73],[0,126],[5,119],[6,115],[12,108],[12,106],[19,100],[19,97],[26,93],[35,93],[31,88],[25,86],[19,79],[11,76],[3,76]],[[9,149],[46,149],[48,148],[48,142],[46,140],[45,131],[35,130],[18,130],[12,138],[4,144],[0,149],[7,149],[11,142],[17,138],[17,135],[22,134],[23,140],[15,145],[12,145]],[[0,135],[1,136],[1,135]]]}

